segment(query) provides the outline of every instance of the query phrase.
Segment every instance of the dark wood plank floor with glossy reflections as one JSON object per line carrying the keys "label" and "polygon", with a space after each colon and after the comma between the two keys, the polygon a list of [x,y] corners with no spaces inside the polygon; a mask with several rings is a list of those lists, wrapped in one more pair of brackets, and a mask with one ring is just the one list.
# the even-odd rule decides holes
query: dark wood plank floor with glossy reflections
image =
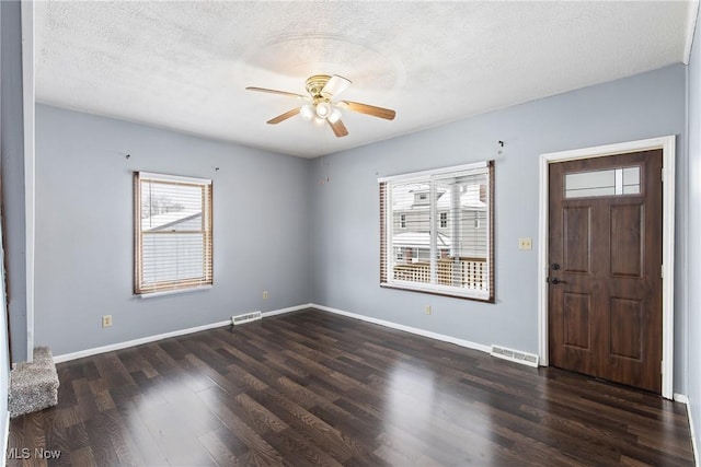
{"label": "dark wood plank floor with glossy reflections", "polygon": [[683,405],[319,311],[57,369],[10,466],[693,465]]}

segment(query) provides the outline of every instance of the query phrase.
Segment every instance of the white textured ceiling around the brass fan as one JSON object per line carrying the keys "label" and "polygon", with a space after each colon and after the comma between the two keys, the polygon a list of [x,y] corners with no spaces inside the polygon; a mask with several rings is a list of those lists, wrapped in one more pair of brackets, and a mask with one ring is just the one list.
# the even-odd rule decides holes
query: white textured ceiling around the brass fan
{"label": "white textured ceiling around the brass fan", "polygon": [[[685,59],[682,1],[36,2],[36,100],[314,157]],[[353,81],[335,138],[299,116],[314,73]]]}

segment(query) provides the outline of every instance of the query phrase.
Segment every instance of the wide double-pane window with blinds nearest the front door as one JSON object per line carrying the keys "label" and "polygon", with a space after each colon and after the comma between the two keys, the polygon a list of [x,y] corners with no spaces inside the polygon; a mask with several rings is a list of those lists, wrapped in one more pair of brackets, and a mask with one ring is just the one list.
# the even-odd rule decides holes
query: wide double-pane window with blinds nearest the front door
{"label": "wide double-pane window with blinds nearest the front door", "polygon": [[492,162],[380,178],[380,285],[494,302],[493,179]]}

